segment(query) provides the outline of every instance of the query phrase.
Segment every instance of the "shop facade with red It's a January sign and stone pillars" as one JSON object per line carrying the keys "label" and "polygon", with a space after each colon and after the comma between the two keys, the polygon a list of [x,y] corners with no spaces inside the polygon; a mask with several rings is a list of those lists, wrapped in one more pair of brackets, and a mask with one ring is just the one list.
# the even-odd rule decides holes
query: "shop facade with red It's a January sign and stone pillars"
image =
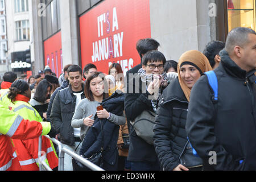
{"label": "shop facade with red It's a January sign and stone pillars", "polygon": [[234,27],[255,30],[255,0],[35,0],[31,17],[35,73],[88,63],[105,73],[119,63],[126,72],[141,61],[142,38],[158,40],[159,51],[178,61],[211,40],[225,42]]}

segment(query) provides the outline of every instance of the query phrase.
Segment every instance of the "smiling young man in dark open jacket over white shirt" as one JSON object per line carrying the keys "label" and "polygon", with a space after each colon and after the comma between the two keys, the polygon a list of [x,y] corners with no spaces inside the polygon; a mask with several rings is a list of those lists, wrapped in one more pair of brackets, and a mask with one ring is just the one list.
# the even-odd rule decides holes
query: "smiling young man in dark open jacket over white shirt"
{"label": "smiling young man in dark open jacket over white shirt", "polygon": [[[85,98],[84,84],[82,84],[82,68],[79,65],[71,65],[68,68],[68,80],[68,88],[59,90],[56,94],[50,119],[52,126],[60,134],[60,142],[63,143],[63,147],[73,151],[81,140],[80,129],[73,128],[71,121],[78,102]],[[72,170],[72,158],[65,154],[64,171]]]}

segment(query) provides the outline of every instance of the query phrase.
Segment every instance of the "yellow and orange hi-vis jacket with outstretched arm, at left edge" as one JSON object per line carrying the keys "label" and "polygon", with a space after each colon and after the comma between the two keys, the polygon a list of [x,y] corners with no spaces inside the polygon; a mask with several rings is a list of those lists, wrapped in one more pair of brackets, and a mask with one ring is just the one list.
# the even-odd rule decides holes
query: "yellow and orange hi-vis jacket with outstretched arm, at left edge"
{"label": "yellow and orange hi-vis jacket with outstretched arm, at left edge", "polygon": [[0,104],[0,171],[21,170],[15,148],[11,143],[13,139],[32,139],[40,135],[47,135],[51,130],[49,122],[24,120],[13,111],[5,109]]}

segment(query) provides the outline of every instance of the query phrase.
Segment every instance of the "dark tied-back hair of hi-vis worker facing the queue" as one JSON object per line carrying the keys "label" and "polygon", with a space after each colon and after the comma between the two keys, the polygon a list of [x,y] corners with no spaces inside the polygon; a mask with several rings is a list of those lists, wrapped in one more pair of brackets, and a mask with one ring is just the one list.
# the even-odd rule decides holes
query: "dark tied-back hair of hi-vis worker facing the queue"
{"label": "dark tied-back hair of hi-vis worker facing the queue", "polygon": [[11,84],[8,98],[11,102],[15,102],[15,97],[18,94],[24,94],[29,89],[29,85],[25,80],[16,80]]}

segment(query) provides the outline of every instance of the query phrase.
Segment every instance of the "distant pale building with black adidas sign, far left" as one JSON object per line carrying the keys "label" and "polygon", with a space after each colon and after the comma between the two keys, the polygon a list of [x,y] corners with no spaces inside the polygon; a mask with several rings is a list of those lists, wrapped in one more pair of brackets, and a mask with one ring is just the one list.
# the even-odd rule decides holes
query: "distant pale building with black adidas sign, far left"
{"label": "distant pale building with black adidas sign, far left", "polygon": [[31,75],[31,1],[9,0],[6,7],[7,71]]}

